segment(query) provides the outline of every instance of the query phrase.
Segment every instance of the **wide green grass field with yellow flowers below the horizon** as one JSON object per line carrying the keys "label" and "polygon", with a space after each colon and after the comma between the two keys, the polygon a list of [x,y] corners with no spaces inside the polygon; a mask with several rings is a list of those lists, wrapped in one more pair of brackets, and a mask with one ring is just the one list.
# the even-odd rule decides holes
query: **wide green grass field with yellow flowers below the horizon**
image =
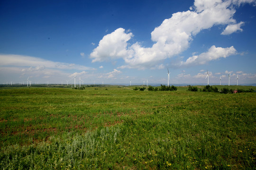
{"label": "wide green grass field with yellow flowers below the horizon", "polygon": [[256,169],[256,93],[128,88],[0,89],[0,169]]}

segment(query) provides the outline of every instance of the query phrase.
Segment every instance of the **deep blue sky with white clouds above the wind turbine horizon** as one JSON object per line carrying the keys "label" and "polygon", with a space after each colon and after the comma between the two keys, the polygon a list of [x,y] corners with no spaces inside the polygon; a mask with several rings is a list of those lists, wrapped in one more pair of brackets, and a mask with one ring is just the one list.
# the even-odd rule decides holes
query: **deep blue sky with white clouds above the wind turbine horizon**
{"label": "deep blue sky with white clouds above the wind turbine horizon", "polygon": [[0,84],[256,83],[256,0],[1,0]]}

